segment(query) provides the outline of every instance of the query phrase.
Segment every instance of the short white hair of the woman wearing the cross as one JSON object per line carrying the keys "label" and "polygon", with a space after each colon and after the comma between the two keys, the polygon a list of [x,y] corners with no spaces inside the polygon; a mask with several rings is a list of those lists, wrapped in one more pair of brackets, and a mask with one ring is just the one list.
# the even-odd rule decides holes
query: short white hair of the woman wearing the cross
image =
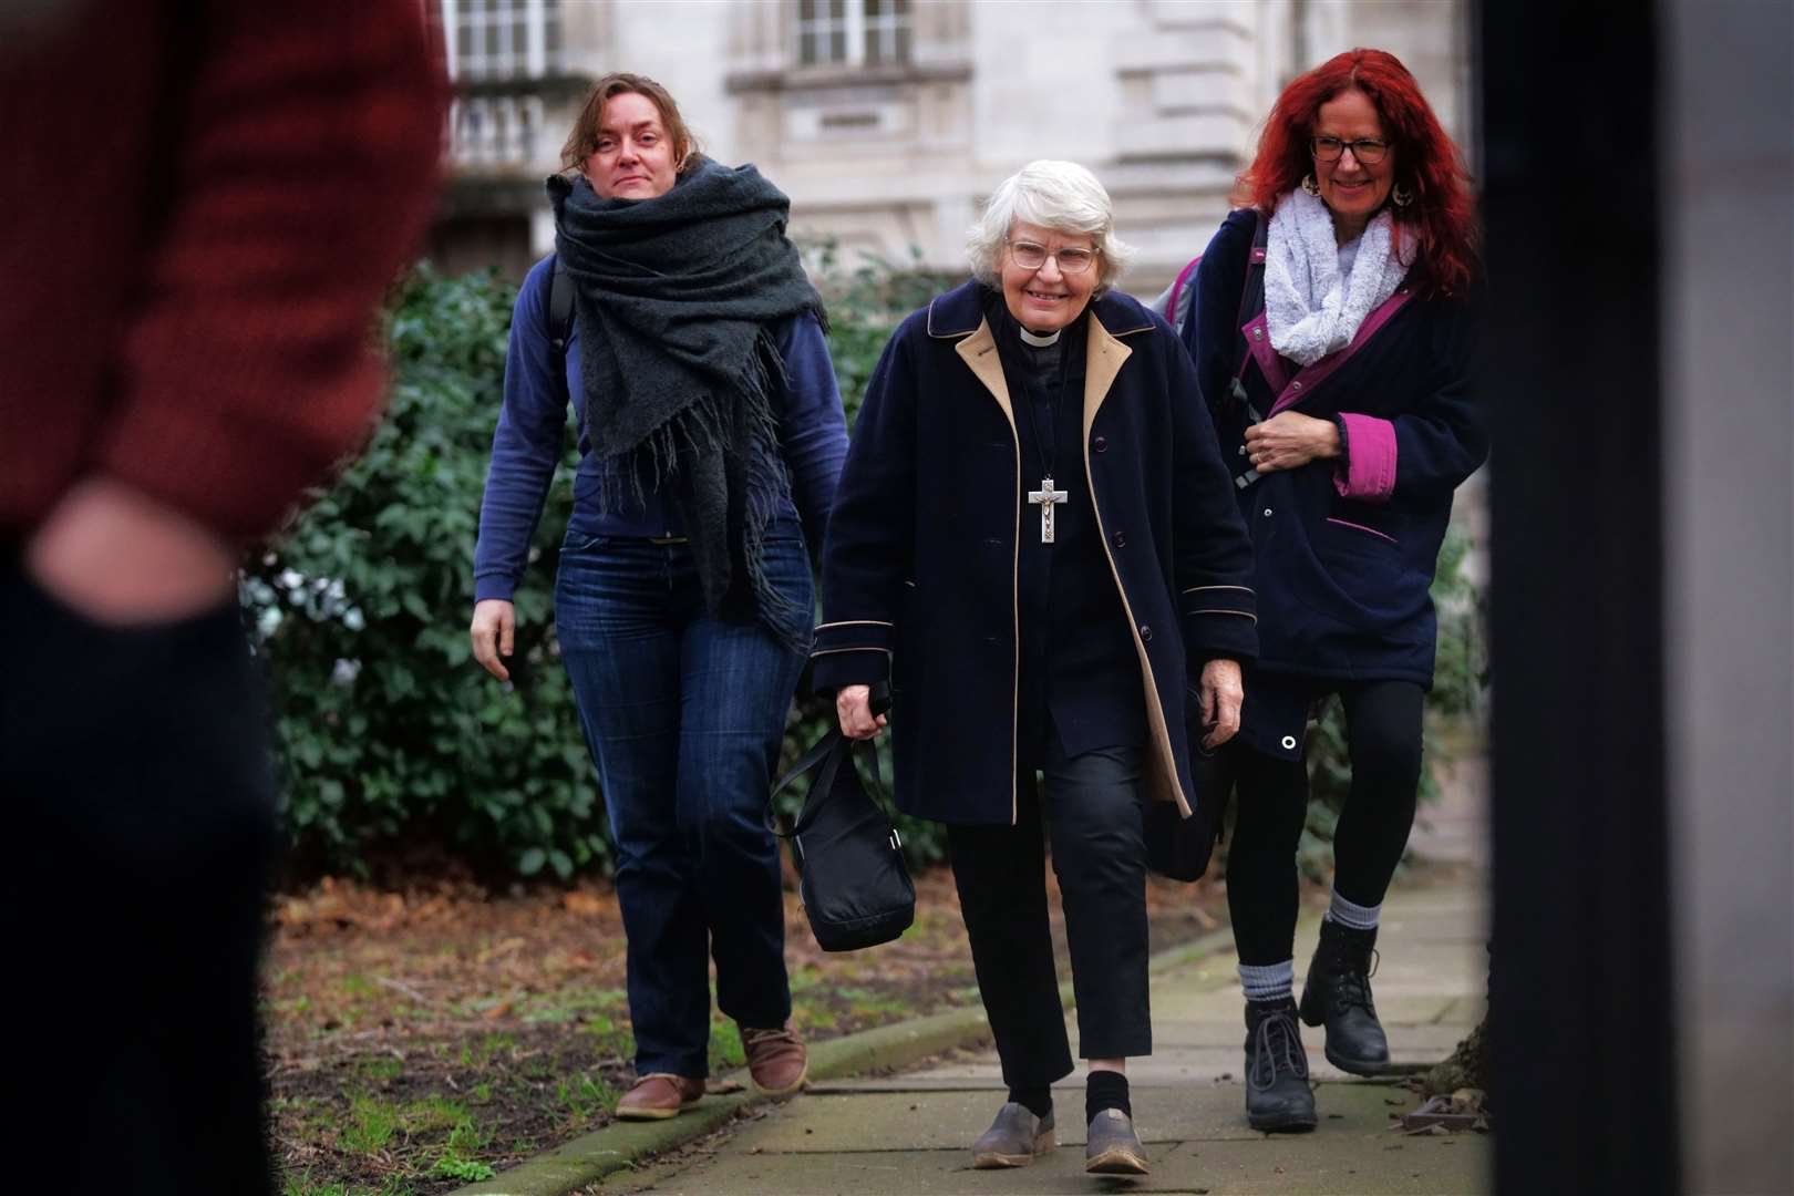
{"label": "short white hair of the woman wearing the cross", "polygon": [[1109,203],[1109,192],[1094,174],[1075,161],[1042,158],[997,183],[985,213],[965,237],[972,278],[987,287],[1003,285],[1003,246],[1017,222],[1089,237],[1102,255],[1098,296],[1109,290],[1134,260],[1134,247],[1114,233],[1114,204]]}

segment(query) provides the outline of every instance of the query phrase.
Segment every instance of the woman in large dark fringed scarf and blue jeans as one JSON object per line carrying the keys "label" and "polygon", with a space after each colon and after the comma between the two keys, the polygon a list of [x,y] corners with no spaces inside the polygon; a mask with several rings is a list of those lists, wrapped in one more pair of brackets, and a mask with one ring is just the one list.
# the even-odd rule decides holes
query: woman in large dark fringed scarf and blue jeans
{"label": "woman in large dark fringed scarf and blue jeans", "polygon": [[[608,75],[547,181],[556,253],[524,280],[474,552],[474,656],[501,681],[513,590],[579,420],[554,620],[617,852],[635,1087],[703,1096],[716,1001],[753,1087],[804,1087],[779,850],[761,821],[811,633],[847,427],[789,201],[703,158],[660,84]],[[556,282],[556,271],[562,278]],[[570,289],[570,332],[551,294]]]}

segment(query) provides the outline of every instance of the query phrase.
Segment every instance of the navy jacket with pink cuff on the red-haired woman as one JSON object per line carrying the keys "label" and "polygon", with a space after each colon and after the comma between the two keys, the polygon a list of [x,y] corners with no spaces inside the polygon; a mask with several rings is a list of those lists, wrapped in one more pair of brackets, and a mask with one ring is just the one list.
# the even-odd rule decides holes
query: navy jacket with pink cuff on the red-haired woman
{"label": "navy jacket with pink cuff on the red-haired woman", "polygon": [[[1197,271],[1184,335],[1222,452],[1247,468],[1243,430],[1293,409],[1346,432],[1346,463],[1315,461],[1238,490],[1258,554],[1263,672],[1406,680],[1432,687],[1437,617],[1430,586],[1451,491],[1487,455],[1469,373],[1476,305],[1417,299],[1406,287],[1351,346],[1299,368],[1270,348],[1263,305],[1240,317],[1254,217],[1227,217]],[[1241,346],[1247,403],[1229,398]],[[1247,717],[1250,723],[1250,680]]]}

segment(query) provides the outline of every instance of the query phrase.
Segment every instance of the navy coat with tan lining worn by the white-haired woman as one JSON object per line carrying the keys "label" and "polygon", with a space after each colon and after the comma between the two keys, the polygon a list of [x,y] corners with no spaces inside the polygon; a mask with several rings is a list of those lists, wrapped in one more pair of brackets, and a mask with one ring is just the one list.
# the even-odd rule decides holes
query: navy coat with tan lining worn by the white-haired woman
{"label": "navy coat with tan lining worn by the white-haired woman", "polygon": [[[969,282],[904,319],[872,373],[813,654],[818,690],[892,681],[897,803],[947,823],[1015,821],[1017,547],[1039,534],[987,296]],[[1073,498],[1096,511],[1139,658],[1146,793],[1188,812],[1195,678],[1258,649],[1252,549],[1177,334],[1125,294],[1089,316]]]}

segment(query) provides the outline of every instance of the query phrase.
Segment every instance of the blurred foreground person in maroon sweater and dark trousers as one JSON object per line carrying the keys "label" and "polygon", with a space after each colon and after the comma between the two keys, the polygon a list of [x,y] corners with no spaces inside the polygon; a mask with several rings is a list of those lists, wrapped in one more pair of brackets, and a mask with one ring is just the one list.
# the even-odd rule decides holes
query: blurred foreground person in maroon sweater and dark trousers
{"label": "blurred foreground person in maroon sweater and dark trousers", "polygon": [[368,430],[440,95],[414,0],[0,13],[14,1187],[271,1185],[235,561]]}

